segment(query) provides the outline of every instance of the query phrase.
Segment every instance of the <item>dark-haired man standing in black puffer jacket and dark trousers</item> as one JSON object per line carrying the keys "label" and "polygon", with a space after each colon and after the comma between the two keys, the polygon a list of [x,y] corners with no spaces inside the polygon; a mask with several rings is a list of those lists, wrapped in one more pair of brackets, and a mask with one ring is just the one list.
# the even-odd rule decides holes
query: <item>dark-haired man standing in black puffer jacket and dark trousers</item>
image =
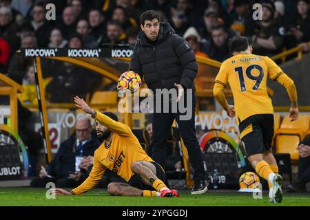
{"label": "dark-haired man standing in black puffer jacket and dark trousers", "polygon": [[[182,37],[174,32],[169,23],[159,23],[159,16],[155,11],[149,10],[141,14],[141,29],[132,54],[130,69],[140,74],[141,78],[144,76],[147,87],[153,92],[163,93],[161,89],[172,89],[175,94],[178,94],[176,100],[169,98],[158,101],[154,98],[154,110],[156,105],[168,102],[169,113],[163,113],[165,112],[163,109],[160,112],[154,111],[152,159],[162,166],[165,164],[167,153],[165,142],[172,123],[176,119],[189,153],[189,162],[194,169],[195,184],[192,194],[204,193],[207,191],[207,183],[195,132],[196,100],[193,81],[198,65],[194,51]],[[189,120],[181,119],[182,113],[179,108],[176,112],[171,111],[172,106],[181,98],[192,99],[187,106],[191,111]]]}

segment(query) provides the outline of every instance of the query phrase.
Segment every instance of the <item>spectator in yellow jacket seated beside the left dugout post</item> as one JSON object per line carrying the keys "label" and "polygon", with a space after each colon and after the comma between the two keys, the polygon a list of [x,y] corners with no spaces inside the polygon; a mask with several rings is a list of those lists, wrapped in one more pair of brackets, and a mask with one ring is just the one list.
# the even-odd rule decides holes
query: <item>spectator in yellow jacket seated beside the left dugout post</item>
{"label": "spectator in yellow jacket seated beside the left dugout post", "polygon": [[[52,78],[43,78],[43,89],[50,83]],[[29,65],[27,67],[26,76],[23,79],[23,93],[20,96],[21,102],[25,104],[38,104],[36,80],[34,77],[34,67]]]}

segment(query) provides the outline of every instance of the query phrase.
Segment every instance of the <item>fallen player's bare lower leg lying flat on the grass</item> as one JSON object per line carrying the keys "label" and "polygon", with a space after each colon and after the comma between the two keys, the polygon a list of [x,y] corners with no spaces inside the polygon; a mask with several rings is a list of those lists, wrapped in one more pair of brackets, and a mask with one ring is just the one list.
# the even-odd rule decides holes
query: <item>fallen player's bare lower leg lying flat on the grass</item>
{"label": "fallen player's bare lower leg lying flat on the grass", "polygon": [[107,185],[107,193],[118,196],[141,196],[143,190],[130,186],[130,184],[112,182]]}

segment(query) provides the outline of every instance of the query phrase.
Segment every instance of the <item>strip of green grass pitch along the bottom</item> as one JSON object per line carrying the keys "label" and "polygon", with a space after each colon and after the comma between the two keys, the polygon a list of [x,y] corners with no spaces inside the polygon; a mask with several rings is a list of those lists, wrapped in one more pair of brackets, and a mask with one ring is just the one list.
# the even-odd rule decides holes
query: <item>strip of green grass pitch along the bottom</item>
{"label": "strip of green grass pitch along the bottom", "polygon": [[191,195],[179,190],[179,198],[111,197],[104,189],[94,189],[79,196],[45,197],[45,188],[0,188],[0,206],[310,206],[310,194],[285,194],[282,203],[253,199],[251,193],[234,190],[209,190],[203,195]]}

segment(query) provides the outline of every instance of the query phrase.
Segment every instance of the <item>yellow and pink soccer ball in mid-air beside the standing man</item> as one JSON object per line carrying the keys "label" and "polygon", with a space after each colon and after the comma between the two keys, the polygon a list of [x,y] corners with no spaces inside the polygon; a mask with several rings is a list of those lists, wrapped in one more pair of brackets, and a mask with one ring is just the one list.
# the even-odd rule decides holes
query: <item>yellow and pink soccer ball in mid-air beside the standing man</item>
{"label": "yellow and pink soccer ball in mid-air beside the standing man", "polygon": [[129,90],[134,92],[139,89],[141,83],[142,80],[139,74],[132,71],[124,72],[121,74],[120,78],[118,78],[118,88],[123,91]]}

